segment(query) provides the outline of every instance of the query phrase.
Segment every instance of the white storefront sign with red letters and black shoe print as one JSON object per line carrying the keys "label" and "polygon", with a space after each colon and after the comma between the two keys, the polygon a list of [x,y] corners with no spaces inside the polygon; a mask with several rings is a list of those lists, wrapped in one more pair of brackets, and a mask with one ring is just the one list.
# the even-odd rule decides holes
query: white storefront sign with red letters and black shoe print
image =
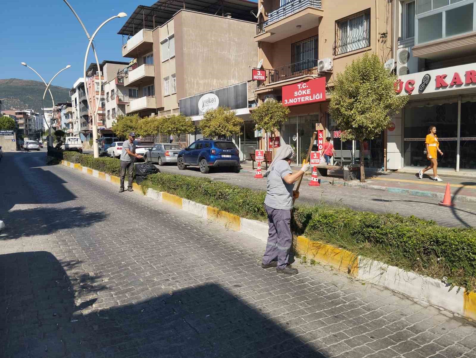
{"label": "white storefront sign with red letters and black shoe print", "polygon": [[395,91],[400,95],[417,95],[476,89],[476,63],[399,76]]}

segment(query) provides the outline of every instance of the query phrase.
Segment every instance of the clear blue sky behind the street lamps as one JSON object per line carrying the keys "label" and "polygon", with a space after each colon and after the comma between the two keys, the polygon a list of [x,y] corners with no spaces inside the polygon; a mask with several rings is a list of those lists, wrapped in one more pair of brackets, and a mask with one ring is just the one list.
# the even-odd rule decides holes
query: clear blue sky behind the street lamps
{"label": "clear blue sky behind the street lamps", "polygon": [[[89,34],[109,17],[125,12],[129,15],[138,5],[154,0],[68,0],[78,13]],[[117,32],[128,17],[109,21],[99,30],[94,44],[99,61],[129,61],[122,57],[122,36]],[[88,46],[86,33],[63,0],[5,0],[0,6],[0,79],[40,80],[26,62],[49,82],[66,65],[53,85],[71,88],[82,77],[84,54]],[[94,61],[92,51],[88,59]]]}

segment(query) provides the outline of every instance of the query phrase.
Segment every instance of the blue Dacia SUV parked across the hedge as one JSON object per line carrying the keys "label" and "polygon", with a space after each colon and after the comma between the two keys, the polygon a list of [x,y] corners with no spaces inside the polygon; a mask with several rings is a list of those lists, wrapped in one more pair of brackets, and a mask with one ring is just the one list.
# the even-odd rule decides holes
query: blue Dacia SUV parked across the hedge
{"label": "blue Dacia SUV parked across the hedge", "polygon": [[239,173],[239,151],[233,142],[224,139],[198,139],[178,152],[177,167],[199,166],[207,174],[210,167],[229,167]]}

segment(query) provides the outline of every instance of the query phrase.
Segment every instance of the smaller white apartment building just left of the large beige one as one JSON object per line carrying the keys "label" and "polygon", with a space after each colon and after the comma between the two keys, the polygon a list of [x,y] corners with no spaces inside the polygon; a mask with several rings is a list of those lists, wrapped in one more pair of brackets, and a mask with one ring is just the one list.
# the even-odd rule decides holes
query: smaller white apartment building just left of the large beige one
{"label": "smaller white apartment building just left of the large beige one", "polygon": [[126,115],[126,104],[133,99],[139,98],[138,87],[124,86],[124,71],[104,84],[106,92],[106,129],[110,129],[119,115]]}

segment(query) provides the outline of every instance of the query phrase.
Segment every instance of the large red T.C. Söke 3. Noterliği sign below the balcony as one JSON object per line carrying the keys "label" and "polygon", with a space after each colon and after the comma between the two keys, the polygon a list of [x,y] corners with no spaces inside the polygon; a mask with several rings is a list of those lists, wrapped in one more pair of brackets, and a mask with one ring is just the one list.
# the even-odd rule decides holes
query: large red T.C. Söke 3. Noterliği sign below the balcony
{"label": "large red T.C. S\u00f6ke 3. Noterli\u011fi sign below the balcony", "polygon": [[320,77],[307,82],[283,86],[283,105],[322,102],[326,100],[326,78]]}

